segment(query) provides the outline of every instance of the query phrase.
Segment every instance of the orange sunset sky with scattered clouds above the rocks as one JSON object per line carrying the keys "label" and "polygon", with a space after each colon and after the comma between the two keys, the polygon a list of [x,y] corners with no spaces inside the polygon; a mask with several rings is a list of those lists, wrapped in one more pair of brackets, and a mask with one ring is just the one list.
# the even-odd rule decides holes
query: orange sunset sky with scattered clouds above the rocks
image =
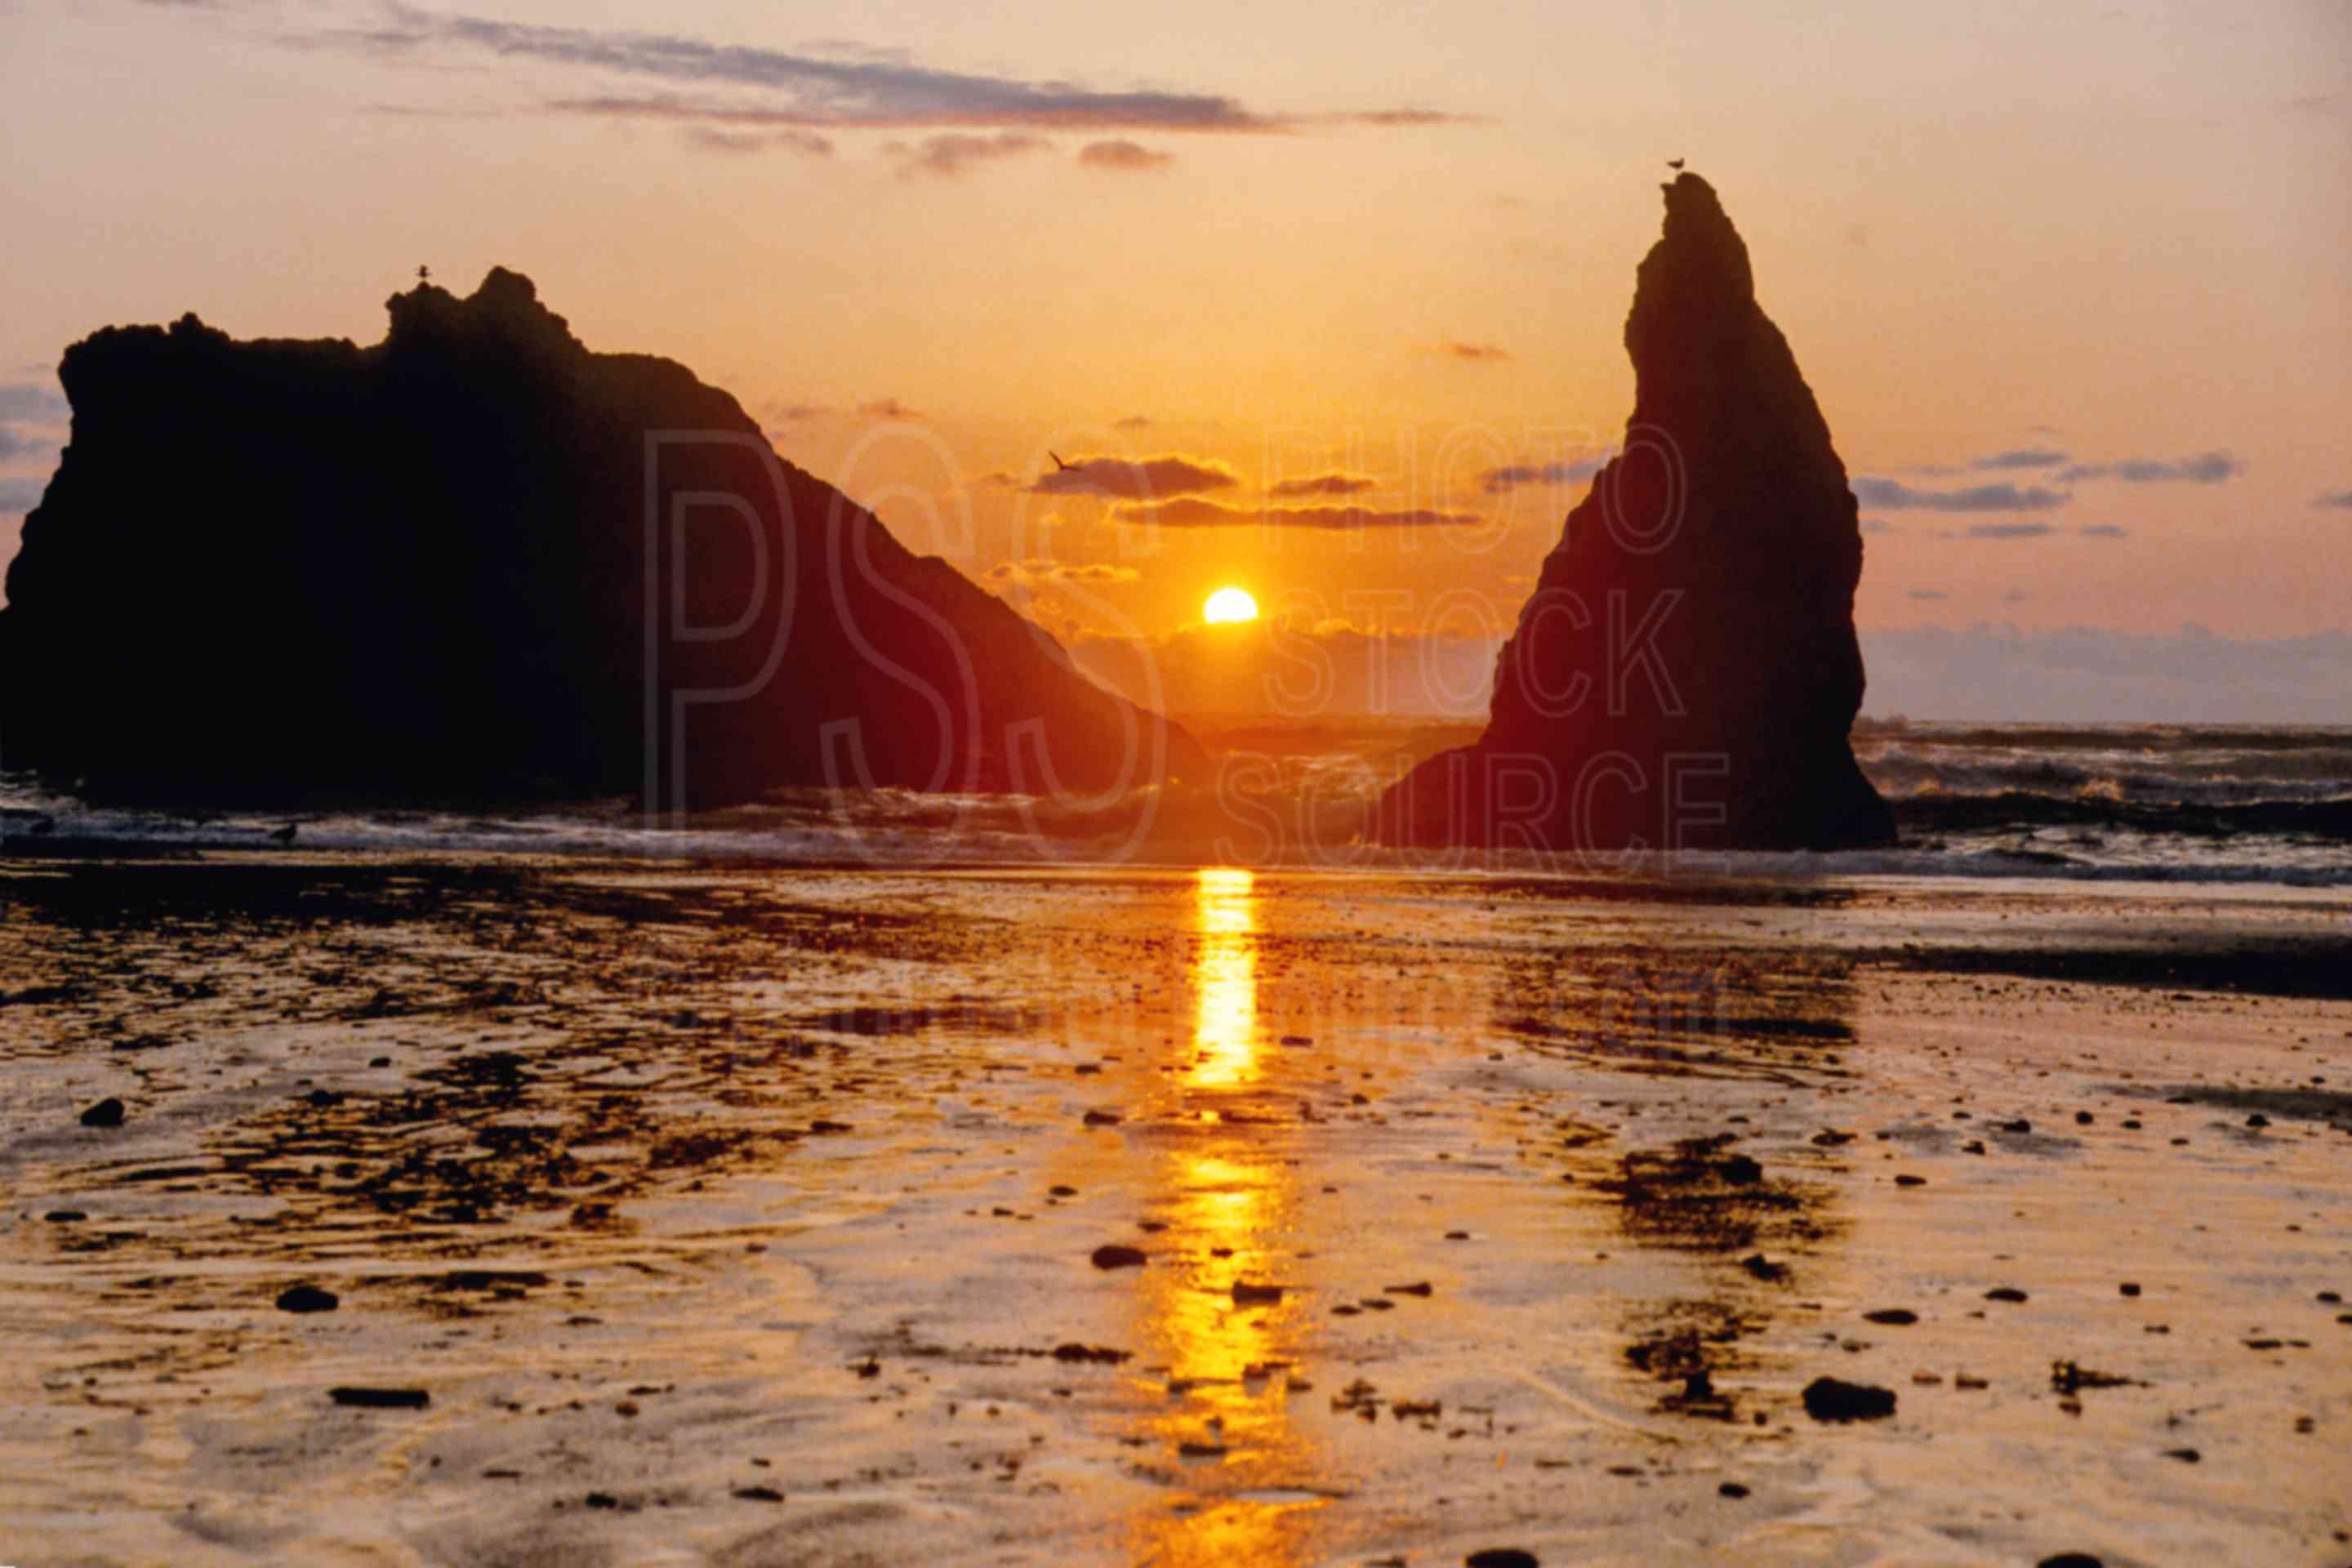
{"label": "orange sunset sky with scattered clouds above the rocks", "polygon": [[1223,583],[1475,642],[1686,155],[1856,477],[1872,710],[2352,717],[2345,0],[0,0],[0,555],[78,336],[367,343],[503,263],[1075,644]]}

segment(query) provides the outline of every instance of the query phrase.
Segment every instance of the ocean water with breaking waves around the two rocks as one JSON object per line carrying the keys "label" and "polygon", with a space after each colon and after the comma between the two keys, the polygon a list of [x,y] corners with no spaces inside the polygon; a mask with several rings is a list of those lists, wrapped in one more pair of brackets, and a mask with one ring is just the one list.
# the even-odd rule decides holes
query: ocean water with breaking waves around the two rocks
{"label": "ocean water with breaking waves around the two rocks", "polygon": [[[760,804],[649,820],[621,799],[428,809],[214,811],[87,802],[0,773],[0,835],[38,853],[92,842],[372,853],[541,853],[814,865],[1291,865],[1362,870],[1606,870],[2352,882],[2352,726],[1976,724],[1863,719],[1853,745],[1893,804],[1896,849],[1842,853],[1543,856],[1390,851],[1359,842],[1367,806],[1406,766],[1475,729],[1430,719],[1188,719],[1221,759],[1216,790],[1063,806],[1030,797],[786,790]],[[1661,865],[1663,860],[1663,865]]]}

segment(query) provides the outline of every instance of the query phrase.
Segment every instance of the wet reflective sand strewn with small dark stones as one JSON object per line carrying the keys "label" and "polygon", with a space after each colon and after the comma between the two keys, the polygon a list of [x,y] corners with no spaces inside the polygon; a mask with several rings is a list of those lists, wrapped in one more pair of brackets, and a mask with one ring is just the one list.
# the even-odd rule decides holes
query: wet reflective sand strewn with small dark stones
{"label": "wet reflective sand strewn with small dark stones", "polygon": [[2352,1561],[2340,893],[0,900],[0,1561]]}

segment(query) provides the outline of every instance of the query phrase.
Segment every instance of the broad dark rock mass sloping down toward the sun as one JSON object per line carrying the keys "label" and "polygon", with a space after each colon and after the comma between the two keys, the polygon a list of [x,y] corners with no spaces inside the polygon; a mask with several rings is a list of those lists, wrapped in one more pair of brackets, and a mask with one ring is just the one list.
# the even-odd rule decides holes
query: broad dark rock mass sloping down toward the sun
{"label": "broad dark rock mass sloping down toward the sun", "polygon": [[0,611],[5,766],[169,799],[1110,790],[1204,776],[689,369],[527,277],[374,348],[193,315],[66,350]]}

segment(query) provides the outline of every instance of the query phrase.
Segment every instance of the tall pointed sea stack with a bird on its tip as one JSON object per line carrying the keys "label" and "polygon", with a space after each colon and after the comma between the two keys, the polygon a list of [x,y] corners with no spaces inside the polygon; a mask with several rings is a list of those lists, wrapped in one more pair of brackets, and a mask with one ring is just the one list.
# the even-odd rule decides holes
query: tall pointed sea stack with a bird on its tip
{"label": "tall pointed sea stack with a bird on its tip", "polygon": [[1825,849],[1893,839],[1853,764],[1863,574],[1846,468],[1748,247],[1665,186],[1625,350],[1625,447],[1496,658],[1486,733],[1383,799],[1385,842]]}

